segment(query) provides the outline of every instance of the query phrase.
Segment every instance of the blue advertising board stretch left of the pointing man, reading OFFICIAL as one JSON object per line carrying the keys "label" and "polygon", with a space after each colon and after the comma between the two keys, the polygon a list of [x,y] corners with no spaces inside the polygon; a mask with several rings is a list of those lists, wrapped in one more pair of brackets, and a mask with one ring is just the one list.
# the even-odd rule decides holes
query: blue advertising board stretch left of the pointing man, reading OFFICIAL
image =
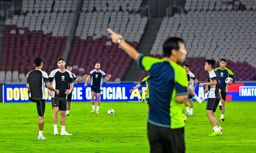
{"label": "blue advertising board stretch left of the pointing man, reading OFFICIAL", "polygon": [[[145,101],[146,87],[140,87],[129,92],[137,84],[103,84],[101,87],[101,101]],[[96,96],[95,96],[96,98]],[[46,102],[51,101],[48,89],[45,88]],[[91,86],[86,88],[84,84],[74,84],[72,102],[91,101]],[[3,102],[29,102],[28,89],[26,85],[3,85]]]}

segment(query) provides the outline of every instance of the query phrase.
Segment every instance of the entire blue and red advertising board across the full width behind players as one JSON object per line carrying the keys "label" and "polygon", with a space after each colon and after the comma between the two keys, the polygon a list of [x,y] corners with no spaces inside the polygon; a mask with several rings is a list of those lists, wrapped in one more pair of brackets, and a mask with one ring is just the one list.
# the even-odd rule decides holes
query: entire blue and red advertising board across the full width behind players
{"label": "entire blue and red advertising board across the full width behind players", "polygon": [[[101,101],[119,102],[119,101],[145,101],[146,87],[140,87],[129,92],[137,84],[103,84],[101,87]],[[28,89],[26,85],[2,85],[3,102],[29,102]],[[199,98],[207,100],[208,95],[203,93],[203,87],[197,86],[195,93]],[[95,96],[96,97],[96,96]],[[48,89],[45,88],[45,98],[47,102],[51,101],[48,95]],[[193,98],[193,100],[195,100]],[[86,88],[84,84],[74,84],[72,92],[72,102],[91,101],[91,87]],[[228,85],[226,101],[256,101],[255,83],[233,83]]]}

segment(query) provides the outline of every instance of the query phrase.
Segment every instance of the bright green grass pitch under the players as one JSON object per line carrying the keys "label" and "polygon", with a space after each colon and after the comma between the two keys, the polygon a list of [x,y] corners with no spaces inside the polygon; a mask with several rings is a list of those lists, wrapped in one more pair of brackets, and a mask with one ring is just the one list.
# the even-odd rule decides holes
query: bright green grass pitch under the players
{"label": "bright green grass pitch under the players", "polygon": [[[221,136],[210,137],[212,126],[206,116],[206,102],[194,103],[194,115],[185,126],[187,153],[255,152],[256,102],[226,102],[224,118],[216,111]],[[113,108],[110,116],[107,110]],[[218,108],[217,108],[218,109]],[[150,152],[147,140],[145,102],[102,102],[100,114],[91,114],[88,102],[72,102],[66,131],[72,136],[54,136],[51,103],[46,103],[44,136],[38,140],[35,103],[0,103],[0,151],[2,152]],[[185,113],[185,106],[184,106]],[[58,118],[58,131],[60,122]]]}

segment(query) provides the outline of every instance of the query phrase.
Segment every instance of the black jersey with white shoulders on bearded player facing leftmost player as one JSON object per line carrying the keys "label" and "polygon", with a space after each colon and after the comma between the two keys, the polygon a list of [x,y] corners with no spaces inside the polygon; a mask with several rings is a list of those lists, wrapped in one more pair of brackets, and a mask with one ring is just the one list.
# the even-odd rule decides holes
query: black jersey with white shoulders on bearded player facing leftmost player
{"label": "black jersey with white shoulders on bearded player facing leftmost player", "polygon": [[55,92],[53,92],[53,96],[59,99],[67,99],[66,89],[69,89],[69,83],[74,82],[71,72],[66,69],[64,72],[55,69],[50,73],[49,81],[52,82],[52,86],[56,90],[59,90],[59,95],[55,95]]}

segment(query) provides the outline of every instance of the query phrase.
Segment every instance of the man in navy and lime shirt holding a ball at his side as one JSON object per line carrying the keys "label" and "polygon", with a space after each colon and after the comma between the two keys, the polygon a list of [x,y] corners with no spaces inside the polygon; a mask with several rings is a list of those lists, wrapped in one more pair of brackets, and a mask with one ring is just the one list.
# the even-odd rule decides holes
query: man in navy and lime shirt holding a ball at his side
{"label": "man in navy and lime shirt holding a ball at his side", "polygon": [[[225,101],[226,101],[226,95],[227,95],[227,85],[230,85],[234,82],[236,82],[236,77],[234,76],[234,73],[226,68],[227,60],[226,58],[221,58],[219,61],[218,68],[214,69],[219,77],[219,93],[221,94],[221,100],[219,101],[219,110],[221,110],[221,121],[224,120],[224,113],[225,113]],[[227,84],[225,83],[226,78],[232,78],[233,81],[229,81]]]}

